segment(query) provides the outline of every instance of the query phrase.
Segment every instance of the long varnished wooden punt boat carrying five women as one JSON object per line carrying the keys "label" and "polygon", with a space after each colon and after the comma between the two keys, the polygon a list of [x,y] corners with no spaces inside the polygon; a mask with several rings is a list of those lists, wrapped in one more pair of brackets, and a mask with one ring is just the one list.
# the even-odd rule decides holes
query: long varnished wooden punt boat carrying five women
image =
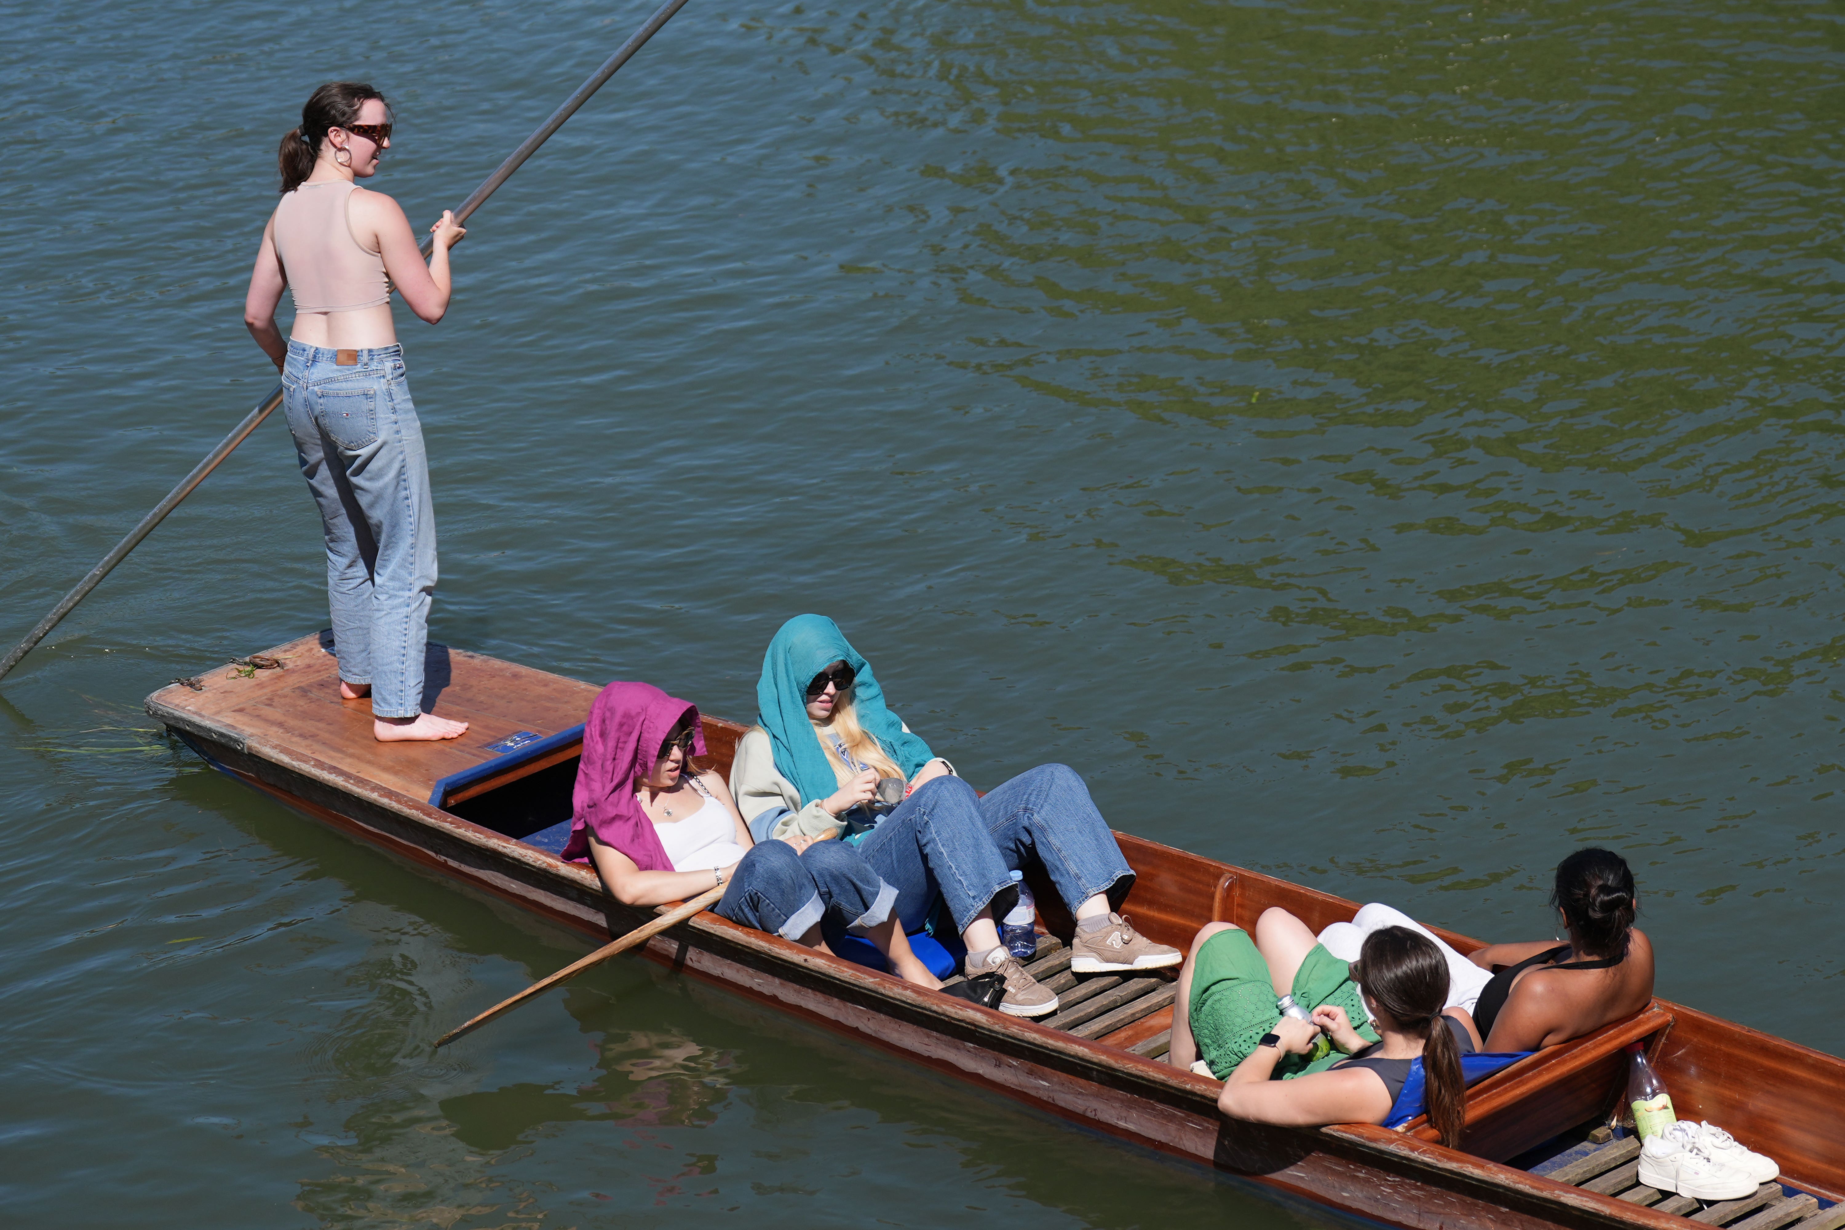
{"label": "long varnished wooden punt boat carrying five women", "polygon": [[[651,915],[614,902],[594,872],[531,841],[570,815],[579,723],[596,686],[432,645],[430,688],[443,714],[472,723],[469,734],[380,745],[367,706],[338,699],[323,645],[325,634],[271,649],[284,669],[212,669],[197,688],[175,682],[148,697],[148,712],[212,765],[284,804],[598,942]],[[720,767],[742,730],[705,719]],[[1135,924],[1161,942],[1184,946],[1210,920],[1251,928],[1269,905],[1315,929],[1356,911],[1354,902],[1127,834],[1120,845],[1138,872]],[[1041,1022],[926,992],[710,913],[653,939],[646,955],[1090,1129],[1397,1226],[1845,1226],[1845,1062],[1830,1055],[1655,999],[1476,1084],[1459,1151],[1435,1143],[1421,1121],[1402,1130],[1225,1121],[1218,1082],[1159,1059],[1172,1022],[1170,972],[1076,979],[1065,948],[1070,918],[1048,883],[1037,887],[1044,935],[1030,968],[1065,1005]],[[1441,935],[1461,952],[1480,946]],[[1771,1154],[1782,1182],[1708,1208],[1642,1188],[1637,1143],[1605,1127],[1631,1042],[1646,1044],[1681,1118],[1720,1123]]]}

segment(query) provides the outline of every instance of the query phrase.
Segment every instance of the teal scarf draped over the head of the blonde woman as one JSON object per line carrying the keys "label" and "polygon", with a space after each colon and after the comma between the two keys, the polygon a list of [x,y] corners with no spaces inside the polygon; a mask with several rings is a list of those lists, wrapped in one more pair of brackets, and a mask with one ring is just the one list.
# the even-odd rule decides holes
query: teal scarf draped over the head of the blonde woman
{"label": "teal scarf draped over the head of the blonde woman", "polygon": [[775,771],[801,791],[803,806],[839,789],[832,775],[832,758],[821,751],[819,739],[814,738],[814,723],[806,716],[806,686],[832,662],[845,662],[858,671],[858,679],[852,680],[852,714],[906,778],[915,776],[917,769],[935,754],[921,736],[904,730],[897,714],[884,708],[884,688],[871,673],[871,664],[852,649],[838,623],[827,616],[795,616],[775,633],[775,640],[762,655],[756,719],[775,747]]}

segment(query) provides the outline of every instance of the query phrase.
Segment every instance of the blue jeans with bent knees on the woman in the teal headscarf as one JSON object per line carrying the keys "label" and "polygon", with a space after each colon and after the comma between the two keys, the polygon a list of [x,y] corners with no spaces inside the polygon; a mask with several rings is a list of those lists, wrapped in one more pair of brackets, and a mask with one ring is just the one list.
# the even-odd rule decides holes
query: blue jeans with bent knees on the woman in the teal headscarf
{"label": "blue jeans with bent knees on the woman in the teal headscarf", "polygon": [[1114,834],[1068,765],[1028,769],[985,797],[961,778],[932,778],[878,821],[858,852],[897,889],[904,931],[922,926],[937,894],[954,929],[965,931],[1000,893],[1009,905],[1011,872],[1033,857],[1072,915],[1098,893],[1120,907],[1135,885]]}

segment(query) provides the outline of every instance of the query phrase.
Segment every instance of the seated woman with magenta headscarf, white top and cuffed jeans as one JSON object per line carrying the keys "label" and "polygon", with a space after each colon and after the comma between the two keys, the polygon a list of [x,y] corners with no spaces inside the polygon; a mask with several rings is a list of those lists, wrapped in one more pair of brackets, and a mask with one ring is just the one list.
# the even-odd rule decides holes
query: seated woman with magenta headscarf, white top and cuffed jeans
{"label": "seated woman with magenta headscarf, white top and cuffed jeans", "polygon": [[570,845],[563,857],[594,861],[627,905],[664,905],[723,887],[718,915],[827,950],[830,913],[919,987],[941,983],[910,952],[897,924],[897,889],[858,850],[814,837],[756,845],[723,778],[705,769],[697,706],[653,684],[613,682],[583,728]]}

